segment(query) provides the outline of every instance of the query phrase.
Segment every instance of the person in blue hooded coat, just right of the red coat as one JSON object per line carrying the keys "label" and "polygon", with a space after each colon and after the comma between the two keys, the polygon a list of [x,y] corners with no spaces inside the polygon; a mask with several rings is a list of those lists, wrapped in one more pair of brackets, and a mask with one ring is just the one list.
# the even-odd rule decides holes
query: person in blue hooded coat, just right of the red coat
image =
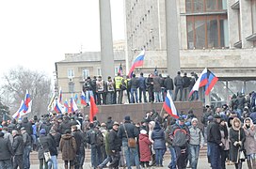
{"label": "person in blue hooded coat, just right of the red coat", "polygon": [[157,167],[163,167],[163,157],[166,152],[165,131],[158,122],[152,131],[153,149],[155,150],[155,164]]}

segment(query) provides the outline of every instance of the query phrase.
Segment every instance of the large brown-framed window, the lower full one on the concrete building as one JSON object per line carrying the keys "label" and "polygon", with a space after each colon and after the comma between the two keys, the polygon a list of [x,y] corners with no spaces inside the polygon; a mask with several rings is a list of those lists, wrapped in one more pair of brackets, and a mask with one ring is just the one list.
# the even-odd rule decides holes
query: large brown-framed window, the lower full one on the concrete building
{"label": "large brown-framed window, the lower full one on the concrete building", "polygon": [[224,15],[187,16],[188,49],[228,47],[228,21]]}

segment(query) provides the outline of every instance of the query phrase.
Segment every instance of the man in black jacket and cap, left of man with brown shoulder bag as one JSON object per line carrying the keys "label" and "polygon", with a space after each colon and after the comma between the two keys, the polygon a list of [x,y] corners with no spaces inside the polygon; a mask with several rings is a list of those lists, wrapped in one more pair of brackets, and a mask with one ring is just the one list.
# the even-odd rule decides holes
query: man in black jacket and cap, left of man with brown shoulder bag
{"label": "man in black jacket and cap, left of man with brown shoulder bag", "polygon": [[121,140],[118,137],[120,124],[118,122],[114,122],[113,129],[108,134],[108,145],[110,150],[110,156],[112,162],[109,165],[109,168],[119,168],[120,163],[120,146]]}

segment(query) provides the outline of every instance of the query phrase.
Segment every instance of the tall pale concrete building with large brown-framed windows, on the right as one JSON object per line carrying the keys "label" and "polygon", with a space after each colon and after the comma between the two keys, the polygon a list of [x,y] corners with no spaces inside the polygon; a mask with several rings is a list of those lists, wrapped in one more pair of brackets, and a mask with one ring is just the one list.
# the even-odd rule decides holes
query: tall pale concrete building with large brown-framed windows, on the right
{"label": "tall pale concrete building with large brown-framed windows, on the right", "polygon": [[[125,1],[128,65],[146,49],[144,72],[167,71],[165,0]],[[212,103],[255,90],[256,0],[177,1],[182,72],[212,70],[219,81]],[[207,98],[206,98],[207,100]]]}

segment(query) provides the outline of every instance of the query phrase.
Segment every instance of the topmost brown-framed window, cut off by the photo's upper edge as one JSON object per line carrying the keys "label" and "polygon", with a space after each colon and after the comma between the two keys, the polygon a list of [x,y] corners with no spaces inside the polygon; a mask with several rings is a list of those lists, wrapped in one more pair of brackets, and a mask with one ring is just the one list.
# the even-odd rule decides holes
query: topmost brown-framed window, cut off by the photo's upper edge
{"label": "topmost brown-framed window, cut off by the photo's upper edge", "polygon": [[227,9],[227,0],[186,0],[187,13],[221,11]]}

